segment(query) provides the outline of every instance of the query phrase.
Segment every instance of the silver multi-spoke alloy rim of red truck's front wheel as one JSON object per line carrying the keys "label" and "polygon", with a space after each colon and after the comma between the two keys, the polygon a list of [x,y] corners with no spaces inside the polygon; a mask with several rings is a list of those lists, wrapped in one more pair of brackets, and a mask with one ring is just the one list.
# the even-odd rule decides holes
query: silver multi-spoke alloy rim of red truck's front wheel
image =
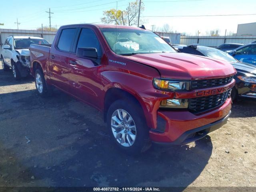
{"label": "silver multi-spoke alloy rim of red truck's front wheel", "polygon": [[111,129],[117,142],[124,147],[130,147],[136,140],[136,126],[132,116],[123,109],[117,109],[111,117]]}

